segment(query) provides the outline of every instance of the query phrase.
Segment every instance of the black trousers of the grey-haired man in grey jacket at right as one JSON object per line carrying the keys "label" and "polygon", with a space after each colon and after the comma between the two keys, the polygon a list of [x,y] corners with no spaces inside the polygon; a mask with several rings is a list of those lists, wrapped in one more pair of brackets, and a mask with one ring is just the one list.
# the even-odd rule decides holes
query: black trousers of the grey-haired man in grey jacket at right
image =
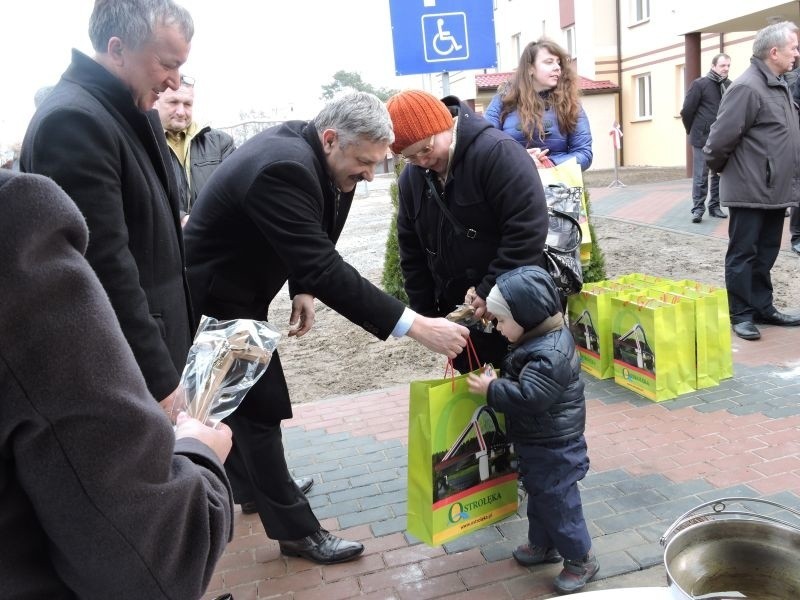
{"label": "black trousers of the grey-haired man in grey jacket at right", "polygon": [[731,323],[775,310],[770,271],[778,258],[786,209],[730,207],[725,287]]}

